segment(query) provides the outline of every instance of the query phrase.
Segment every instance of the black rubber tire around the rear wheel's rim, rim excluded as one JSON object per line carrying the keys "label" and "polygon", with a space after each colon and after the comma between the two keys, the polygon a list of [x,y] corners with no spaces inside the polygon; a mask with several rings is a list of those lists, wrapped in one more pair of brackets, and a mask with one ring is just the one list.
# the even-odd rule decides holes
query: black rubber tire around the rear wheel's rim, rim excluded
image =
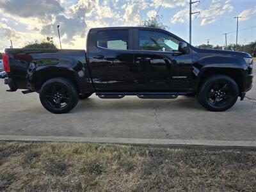
{"label": "black rubber tire around the rear wheel's rim, rim excluded", "polygon": [[[64,86],[67,89],[67,92],[70,97],[70,102],[68,102],[67,106],[65,106],[64,108],[61,108],[61,109],[52,108],[52,106],[47,103],[47,100],[45,97],[46,90],[47,88],[49,88],[49,86],[52,86],[53,84],[60,84],[61,86]],[[68,111],[72,110],[76,106],[78,102],[78,93],[74,84],[68,81],[68,79],[54,78],[46,81],[42,86],[40,90],[40,101],[44,106],[44,108],[47,109],[47,111],[50,111],[51,113],[56,113],[56,114],[67,113]]]}

